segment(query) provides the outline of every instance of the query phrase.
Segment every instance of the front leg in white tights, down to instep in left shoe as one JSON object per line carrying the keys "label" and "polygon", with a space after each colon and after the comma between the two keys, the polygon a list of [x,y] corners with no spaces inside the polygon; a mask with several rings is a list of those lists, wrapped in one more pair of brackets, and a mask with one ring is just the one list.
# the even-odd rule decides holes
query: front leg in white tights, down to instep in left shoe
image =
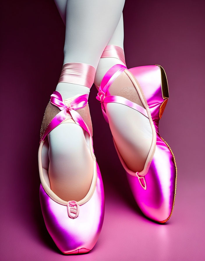
{"label": "front leg in white tights, down to instep in left shoe", "polygon": [[[97,68],[123,6],[124,0],[68,0],[64,64],[85,63]],[[85,86],[65,82],[60,82],[56,90],[63,99],[89,93]],[[76,124],[61,124],[50,132],[48,141],[43,151],[43,165],[48,168],[46,164],[49,164],[51,189],[63,200],[81,200],[90,188],[93,175],[93,161],[84,131]]]}

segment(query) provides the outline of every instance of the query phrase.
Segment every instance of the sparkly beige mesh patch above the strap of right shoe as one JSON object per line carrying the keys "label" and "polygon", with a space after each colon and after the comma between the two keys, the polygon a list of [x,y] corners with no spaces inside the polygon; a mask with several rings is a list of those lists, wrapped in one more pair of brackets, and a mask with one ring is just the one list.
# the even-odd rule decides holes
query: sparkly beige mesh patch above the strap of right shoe
{"label": "sparkly beige mesh patch above the strap of right shoe", "polygon": [[137,103],[138,105],[144,108],[142,101],[140,100],[137,90],[134,86],[122,88],[117,95],[126,98],[132,101],[133,103]]}

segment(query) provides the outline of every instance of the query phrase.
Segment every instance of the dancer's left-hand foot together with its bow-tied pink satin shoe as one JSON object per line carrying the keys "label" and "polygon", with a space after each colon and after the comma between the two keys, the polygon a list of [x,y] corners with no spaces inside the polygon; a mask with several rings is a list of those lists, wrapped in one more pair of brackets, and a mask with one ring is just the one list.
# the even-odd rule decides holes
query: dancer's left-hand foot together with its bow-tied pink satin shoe
{"label": "dancer's left-hand foot together with its bow-tied pink satin shoe", "polygon": [[[38,151],[40,204],[45,225],[58,248],[68,255],[87,253],[93,248],[104,218],[104,189],[93,153],[91,126],[89,127],[86,117],[87,98],[88,95],[85,94],[63,100],[61,94],[54,91],[45,111]],[[66,135],[59,137],[55,129],[57,131],[59,129],[59,133],[70,131],[67,135],[72,134],[73,140],[67,139]],[[73,130],[75,134],[71,133]],[[48,149],[50,145],[48,142],[53,136],[56,143],[53,142],[52,147]],[[75,149],[75,141],[79,142],[77,137],[82,143],[83,152]],[[65,142],[70,151],[67,153],[66,162],[63,161],[64,154],[61,154]],[[50,162],[50,165],[54,165],[52,166],[54,174],[50,173],[50,167],[46,168],[46,163],[49,165],[50,150],[52,156],[58,157],[54,159],[56,165]],[[53,153],[53,150],[57,150],[59,154]],[[80,157],[77,153],[83,162],[79,162]],[[92,173],[85,169],[85,165],[83,166],[84,157],[87,155],[89,161],[92,159]],[[64,168],[61,164],[65,165],[67,161],[69,162],[67,173],[63,173]],[[81,170],[82,174],[75,173],[76,169]]]}

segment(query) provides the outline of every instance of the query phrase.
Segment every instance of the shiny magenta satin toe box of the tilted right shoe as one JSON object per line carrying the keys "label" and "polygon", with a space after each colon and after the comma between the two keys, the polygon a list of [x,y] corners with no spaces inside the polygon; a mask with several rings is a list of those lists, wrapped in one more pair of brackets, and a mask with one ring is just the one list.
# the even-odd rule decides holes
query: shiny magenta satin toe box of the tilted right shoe
{"label": "shiny magenta satin toe box of the tilted right shoe", "polygon": [[138,178],[127,173],[135,200],[145,216],[165,223],[172,214],[176,194],[176,167],[170,149],[157,139],[155,154],[145,176],[144,190]]}

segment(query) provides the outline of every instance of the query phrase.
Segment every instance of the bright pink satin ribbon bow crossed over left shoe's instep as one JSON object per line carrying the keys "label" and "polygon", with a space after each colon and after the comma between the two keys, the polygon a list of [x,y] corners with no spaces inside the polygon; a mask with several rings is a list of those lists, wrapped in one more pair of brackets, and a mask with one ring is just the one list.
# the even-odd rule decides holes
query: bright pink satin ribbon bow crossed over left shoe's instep
{"label": "bright pink satin ribbon bow crossed over left shoe's instep", "polygon": [[66,113],[69,112],[73,120],[75,121],[76,124],[81,126],[85,131],[87,131],[90,135],[89,128],[85,124],[84,120],[80,116],[76,110],[79,110],[83,107],[86,106],[88,102],[88,94],[84,94],[82,96],[78,96],[74,100],[71,101],[71,103],[67,106],[63,99],[61,94],[58,91],[54,91],[53,94],[51,95],[50,102],[59,107],[61,110],[50,122],[48,125],[47,129],[45,130],[45,133],[43,135],[43,139],[52,131],[56,126],[58,126],[61,122],[63,122],[66,119]]}

